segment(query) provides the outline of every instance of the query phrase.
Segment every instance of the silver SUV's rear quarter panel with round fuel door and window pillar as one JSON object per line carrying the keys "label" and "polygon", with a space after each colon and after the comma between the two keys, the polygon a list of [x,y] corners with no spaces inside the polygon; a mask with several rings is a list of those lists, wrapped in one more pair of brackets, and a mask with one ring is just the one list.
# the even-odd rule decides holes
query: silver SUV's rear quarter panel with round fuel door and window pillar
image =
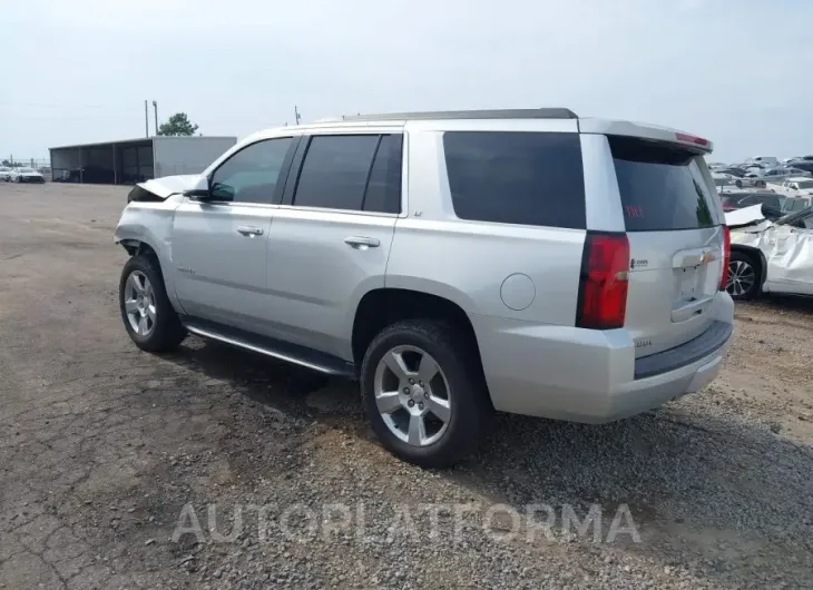
{"label": "silver SUV's rear quarter panel with round fuel door and window pillar", "polygon": [[[449,130],[463,126],[453,122]],[[562,131],[571,121],[533,124],[538,129],[531,130]],[[506,121],[506,129],[491,125],[489,130],[515,130],[517,122]],[[572,326],[586,232],[459,219],[443,129],[425,121],[410,126],[406,215],[395,226],[385,286],[439,295],[469,314]]]}

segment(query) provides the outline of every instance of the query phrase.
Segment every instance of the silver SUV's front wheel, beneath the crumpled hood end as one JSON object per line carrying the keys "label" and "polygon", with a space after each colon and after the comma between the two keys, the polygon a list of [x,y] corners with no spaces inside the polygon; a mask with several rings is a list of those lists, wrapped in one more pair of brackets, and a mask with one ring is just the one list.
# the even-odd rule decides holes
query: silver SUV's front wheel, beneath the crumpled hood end
{"label": "silver SUV's front wheel, beneath the crumpled hood end", "polygon": [[127,334],[143,351],[173,351],[186,337],[155,258],[139,255],[127,260],[121,271],[118,297]]}

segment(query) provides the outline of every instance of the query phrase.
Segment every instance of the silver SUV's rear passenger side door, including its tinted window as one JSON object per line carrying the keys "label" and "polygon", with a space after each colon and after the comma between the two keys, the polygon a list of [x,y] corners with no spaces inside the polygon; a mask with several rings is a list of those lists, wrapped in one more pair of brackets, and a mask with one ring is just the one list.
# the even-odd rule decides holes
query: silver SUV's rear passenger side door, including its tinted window
{"label": "silver SUV's rear passenger side door, including its tinted window", "polygon": [[350,130],[303,138],[268,236],[265,316],[274,336],[352,360],[357,303],[384,286],[402,140]]}

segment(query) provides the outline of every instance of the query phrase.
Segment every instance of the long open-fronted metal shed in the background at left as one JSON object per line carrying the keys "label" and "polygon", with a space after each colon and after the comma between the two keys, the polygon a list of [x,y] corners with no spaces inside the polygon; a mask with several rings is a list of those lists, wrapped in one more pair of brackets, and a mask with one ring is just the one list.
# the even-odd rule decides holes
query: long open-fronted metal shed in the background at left
{"label": "long open-fronted metal shed in the background at left", "polygon": [[53,180],[131,185],[160,176],[199,174],[236,137],[145,137],[50,148]]}

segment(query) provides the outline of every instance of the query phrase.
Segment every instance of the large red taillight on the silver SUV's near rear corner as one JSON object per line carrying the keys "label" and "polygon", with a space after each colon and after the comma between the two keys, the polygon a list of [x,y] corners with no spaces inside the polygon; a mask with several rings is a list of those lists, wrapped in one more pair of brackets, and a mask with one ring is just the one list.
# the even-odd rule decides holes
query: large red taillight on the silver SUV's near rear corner
{"label": "large red taillight on the silver SUV's near rear corner", "polygon": [[628,282],[627,235],[588,232],[581,258],[576,326],[591,330],[623,327]]}

